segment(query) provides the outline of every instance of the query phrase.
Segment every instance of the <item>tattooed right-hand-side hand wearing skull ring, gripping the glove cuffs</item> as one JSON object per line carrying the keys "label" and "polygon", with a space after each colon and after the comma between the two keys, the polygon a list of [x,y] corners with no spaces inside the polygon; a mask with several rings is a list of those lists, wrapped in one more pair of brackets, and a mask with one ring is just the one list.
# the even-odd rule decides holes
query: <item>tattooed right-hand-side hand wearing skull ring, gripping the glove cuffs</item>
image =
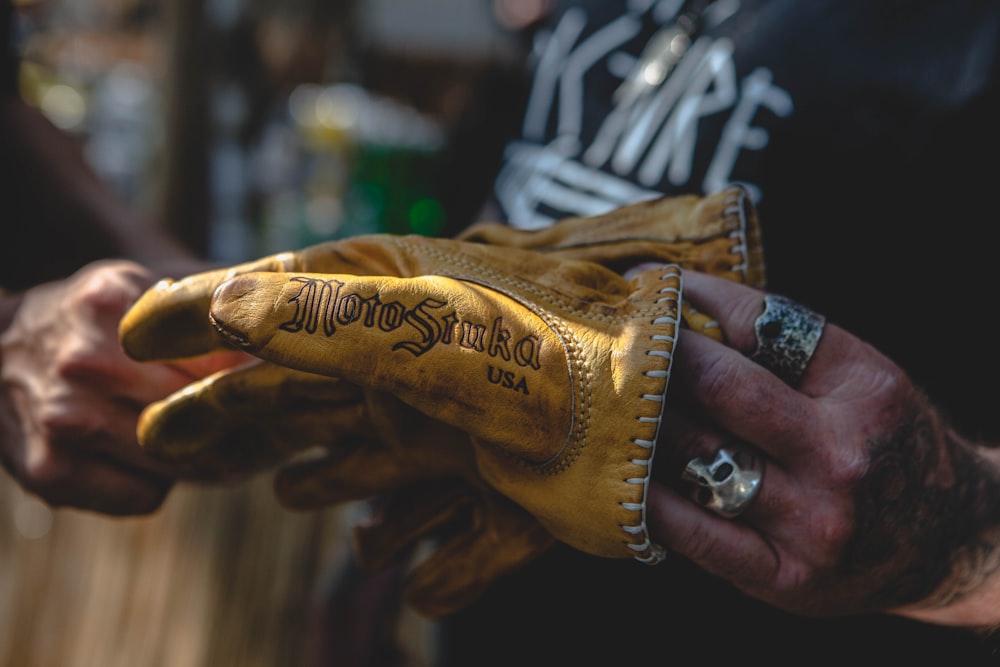
{"label": "tattooed right-hand-side hand wearing skull ring, gripping the glove cuffs", "polygon": [[[654,537],[750,595],[807,615],[1000,620],[1000,473],[900,368],[827,323],[793,388],[748,358],[763,293],[685,273],[727,345],[682,331],[649,497]],[[685,462],[760,456],[760,492],[727,519],[688,499]]]}

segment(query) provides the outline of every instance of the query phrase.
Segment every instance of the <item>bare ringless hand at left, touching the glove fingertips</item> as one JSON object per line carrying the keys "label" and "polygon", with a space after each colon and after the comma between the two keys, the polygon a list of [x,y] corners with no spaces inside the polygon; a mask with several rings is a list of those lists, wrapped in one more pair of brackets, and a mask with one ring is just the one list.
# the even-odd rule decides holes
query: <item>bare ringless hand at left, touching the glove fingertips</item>
{"label": "bare ringless hand at left, touching the glove fingertips", "polygon": [[139,412],[231,364],[233,355],[176,364],[126,357],[118,320],[152,283],[137,264],[98,262],[7,297],[13,315],[0,334],[0,457],[51,505],[144,514],[190,472],[139,448]]}

